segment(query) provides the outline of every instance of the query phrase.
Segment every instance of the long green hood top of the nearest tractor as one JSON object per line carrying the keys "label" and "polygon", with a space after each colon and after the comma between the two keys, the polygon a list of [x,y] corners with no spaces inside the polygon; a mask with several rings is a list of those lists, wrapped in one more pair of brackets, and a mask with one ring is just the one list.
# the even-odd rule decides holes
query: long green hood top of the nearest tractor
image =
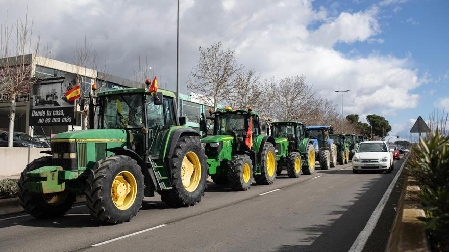
{"label": "long green hood top of the nearest tractor", "polygon": [[125,142],[127,139],[127,135],[124,129],[77,130],[56,134],[52,137],[52,142],[63,139],[76,139],[76,141],[80,142]]}

